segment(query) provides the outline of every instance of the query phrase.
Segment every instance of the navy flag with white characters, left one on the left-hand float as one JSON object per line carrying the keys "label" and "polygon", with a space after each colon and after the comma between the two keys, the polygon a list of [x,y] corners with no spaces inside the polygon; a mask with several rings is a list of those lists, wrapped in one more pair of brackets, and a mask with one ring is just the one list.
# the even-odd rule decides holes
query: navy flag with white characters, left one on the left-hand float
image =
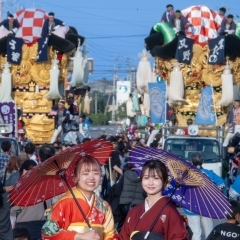
{"label": "navy flag with white characters, left one on the left-hand float", "polygon": [[19,65],[22,60],[23,40],[13,36],[8,36],[7,40],[7,61]]}

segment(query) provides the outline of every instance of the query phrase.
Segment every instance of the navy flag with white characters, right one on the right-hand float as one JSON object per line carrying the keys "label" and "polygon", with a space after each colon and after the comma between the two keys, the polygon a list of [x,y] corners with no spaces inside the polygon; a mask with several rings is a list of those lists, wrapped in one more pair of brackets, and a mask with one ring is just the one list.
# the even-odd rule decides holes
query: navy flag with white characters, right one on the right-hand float
{"label": "navy flag with white characters, right one on the right-hand float", "polygon": [[214,38],[208,41],[210,49],[208,63],[221,64],[225,61],[225,36]]}

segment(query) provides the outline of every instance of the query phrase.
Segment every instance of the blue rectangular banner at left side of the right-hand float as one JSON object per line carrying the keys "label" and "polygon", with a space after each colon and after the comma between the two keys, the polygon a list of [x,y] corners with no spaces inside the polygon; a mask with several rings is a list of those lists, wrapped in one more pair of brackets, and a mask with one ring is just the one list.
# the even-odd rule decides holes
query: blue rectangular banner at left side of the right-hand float
{"label": "blue rectangular banner at left side of the right-hand float", "polygon": [[149,83],[150,114],[152,123],[166,122],[167,91],[164,81]]}

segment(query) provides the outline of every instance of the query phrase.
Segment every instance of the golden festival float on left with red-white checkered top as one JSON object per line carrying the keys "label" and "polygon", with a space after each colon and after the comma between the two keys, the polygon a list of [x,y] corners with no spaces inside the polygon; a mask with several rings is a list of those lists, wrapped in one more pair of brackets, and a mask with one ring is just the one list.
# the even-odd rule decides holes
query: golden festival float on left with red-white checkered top
{"label": "golden festival float on left with red-white checkered top", "polygon": [[[15,35],[0,28],[1,105],[14,103],[15,115],[17,108],[22,110],[27,138],[35,144],[49,143],[54,131],[54,117],[49,113],[54,103],[70,89],[81,105],[89,90],[87,57],[81,51],[84,37],[65,25],[42,37],[48,14],[41,9],[20,10],[14,18],[20,25]],[[70,63],[73,73],[68,83]],[[15,126],[11,136],[17,137],[17,121],[1,115],[5,123]]]}

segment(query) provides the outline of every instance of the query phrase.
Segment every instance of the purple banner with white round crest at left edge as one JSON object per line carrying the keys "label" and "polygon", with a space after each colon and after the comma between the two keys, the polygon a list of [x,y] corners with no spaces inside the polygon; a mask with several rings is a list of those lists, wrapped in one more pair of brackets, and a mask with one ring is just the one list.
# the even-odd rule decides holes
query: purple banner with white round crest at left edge
{"label": "purple banner with white round crest at left edge", "polygon": [[13,126],[13,132],[9,134],[9,137],[15,137],[17,120],[15,102],[0,102],[0,114],[4,124],[11,124]]}

